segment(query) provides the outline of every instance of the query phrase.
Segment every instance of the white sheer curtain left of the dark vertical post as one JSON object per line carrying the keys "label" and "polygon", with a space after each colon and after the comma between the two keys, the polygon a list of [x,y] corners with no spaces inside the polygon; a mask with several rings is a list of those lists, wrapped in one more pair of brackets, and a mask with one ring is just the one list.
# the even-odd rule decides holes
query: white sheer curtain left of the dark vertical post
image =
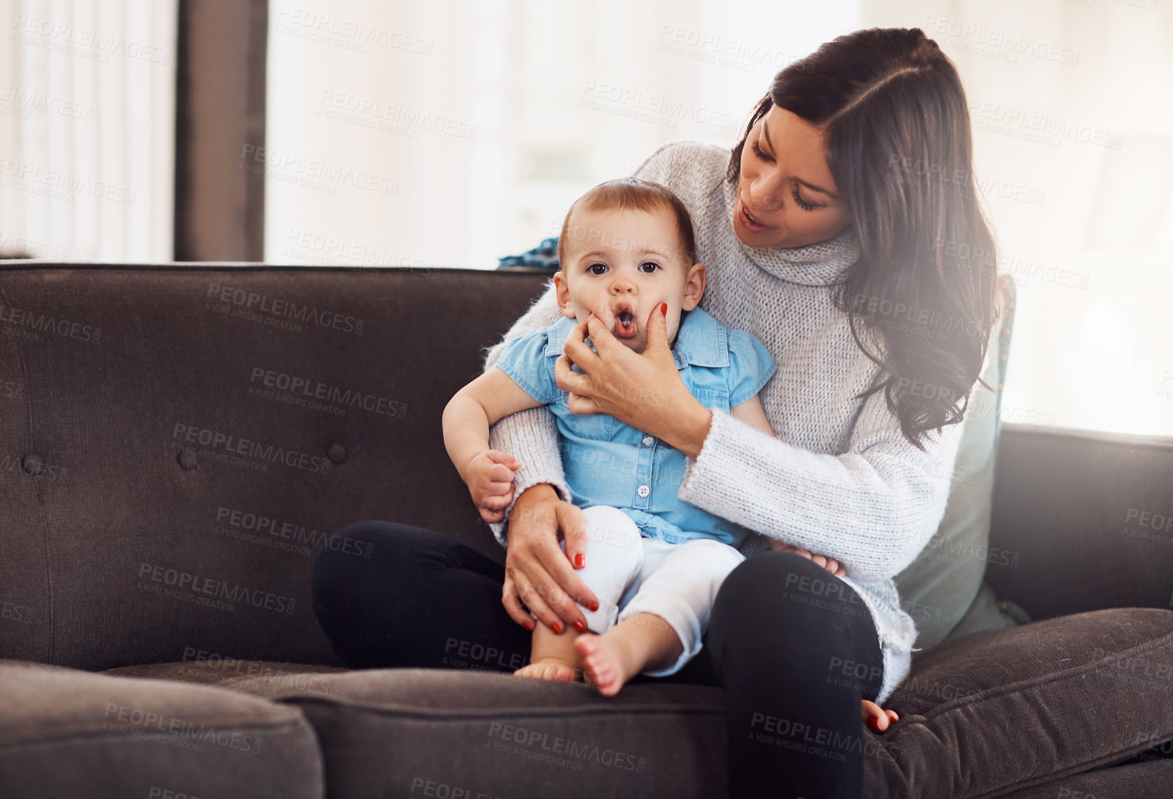
{"label": "white sheer curtain left of the dark vertical post", "polygon": [[0,0],[0,251],[171,259],[177,0]]}

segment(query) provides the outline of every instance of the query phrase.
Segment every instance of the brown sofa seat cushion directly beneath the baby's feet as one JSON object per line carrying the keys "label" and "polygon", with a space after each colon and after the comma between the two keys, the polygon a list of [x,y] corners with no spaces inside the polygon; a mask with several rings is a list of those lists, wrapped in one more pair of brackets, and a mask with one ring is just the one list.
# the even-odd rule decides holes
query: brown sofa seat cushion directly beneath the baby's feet
{"label": "brown sofa seat cushion directly beneath the baby's feet", "polygon": [[371,669],[330,683],[334,696],[276,696],[313,723],[331,799],[726,792],[718,688],[644,683],[608,698],[581,683],[442,669]]}

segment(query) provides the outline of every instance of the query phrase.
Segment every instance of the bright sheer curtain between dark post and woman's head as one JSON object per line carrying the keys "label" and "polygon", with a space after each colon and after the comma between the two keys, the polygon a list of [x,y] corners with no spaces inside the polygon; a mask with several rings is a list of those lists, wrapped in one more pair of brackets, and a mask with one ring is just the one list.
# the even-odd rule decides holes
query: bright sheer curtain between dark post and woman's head
{"label": "bright sheer curtain between dark post and woman's head", "polygon": [[495,266],[659,144],[730,145],[854,27],[854,0],[271,0],[266,258]]}

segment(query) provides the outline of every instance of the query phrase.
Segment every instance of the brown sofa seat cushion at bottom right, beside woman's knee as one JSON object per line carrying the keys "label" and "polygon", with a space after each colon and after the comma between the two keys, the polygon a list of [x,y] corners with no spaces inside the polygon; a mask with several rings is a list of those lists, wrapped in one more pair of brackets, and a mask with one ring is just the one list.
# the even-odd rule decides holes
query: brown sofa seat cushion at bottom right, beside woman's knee
{"label": "brown sofa seat cushion at bottom right, beside woman's knee", "polygon": [[867,785],[886,797],[992,797],[1121,763],[1173,738],[1171,673],[1169,610],[1098,610],[945,642],[914,657],[887,703],[900,713],[883,734],[895,757],[867,758]]}

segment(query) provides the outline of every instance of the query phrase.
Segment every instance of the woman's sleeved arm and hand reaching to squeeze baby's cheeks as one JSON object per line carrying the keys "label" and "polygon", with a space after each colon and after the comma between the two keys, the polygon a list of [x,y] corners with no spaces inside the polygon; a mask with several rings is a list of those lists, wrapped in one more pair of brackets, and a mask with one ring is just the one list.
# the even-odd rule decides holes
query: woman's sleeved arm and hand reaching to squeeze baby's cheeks
{"label": "woman's sleeved arm and hand reaching to squeeze baby's cheeks", "polygon": [[[833,557],[848,576],[888,578],[913,562],[944,515],[961,425],[930,434],[922,452],[876,392],[846,453],[795,447],[704,408],[680,380],[657,317],[649,318],[643,353],[594,317],[570,332],[555,372],[558,387],[572,392],[574,413],[608,413],[680,449],[689,456],[682,500]],[[584,373],[571,372],[571,363]]]}

